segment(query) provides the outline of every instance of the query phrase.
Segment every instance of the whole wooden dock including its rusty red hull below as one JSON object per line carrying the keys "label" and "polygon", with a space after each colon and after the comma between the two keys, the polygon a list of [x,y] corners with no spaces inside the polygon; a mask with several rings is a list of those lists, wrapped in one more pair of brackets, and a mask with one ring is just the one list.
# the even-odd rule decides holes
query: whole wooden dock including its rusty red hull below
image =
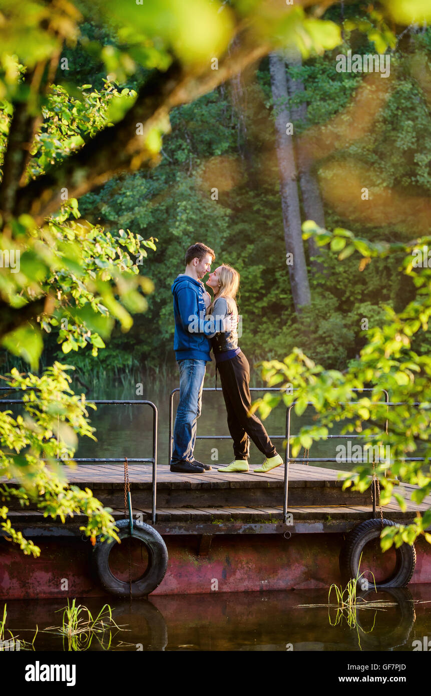
{"label": "whole wooden dock including its rusty red hull below", "polygon": [[[71,484],[92,489],[112,509],[114,519],[128,517],[122,464],[77,464],[74,469],[66,467],[65,475]],[[152,467],[129,464],[129,475],[134,520],[151,525]],[[158,466],[154,526],[166,544],[169,564],[153,594],[212,594],[216,582],[219,592],[328,588],[341,583],[339,557],[345,535],[373,517],[370,490],[343,491],[345,476],[334,469],[291,464],[286,524],[283,467],[269,474],[219,473],[214,467],[187,476]],[[402,512],[392,501],[384,506],[385,518],[409,523],[417,512],[431,507],[431,496],[414,505],[409,500],[412,488],[397,487],[405,495],[407,510]],[[15,544],[2,542],[0,599],[63,598],[65,579],[67,596],[110,596],[93,567],[95,547],[79,529],[86,516],[74,515],[61,523],[44,517],[36,505],[22,508],[16,500],[7,504],[14,508],[9,514],[13,528],[34,539],[41,553],[23,562]],[[148,554],[141,552],[139,547],[132,551],[134,578],[146,571]],[[127,582],[125,549],[113,546],[112,553],[112,572]],[[382,560],[375,560],[373,545],[367,553],[373,572],[384,577],[395,567],[394,549]],[[429,583],[430,545],[423,537],[416,541],[416,553],[412,583]]]}

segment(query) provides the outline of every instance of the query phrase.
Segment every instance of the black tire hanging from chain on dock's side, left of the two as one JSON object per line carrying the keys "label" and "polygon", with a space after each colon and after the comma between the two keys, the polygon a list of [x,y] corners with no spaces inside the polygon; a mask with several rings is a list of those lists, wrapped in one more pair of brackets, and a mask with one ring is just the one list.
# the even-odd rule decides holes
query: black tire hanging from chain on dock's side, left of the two
{"label": "black tire hanging from chain on dock's side, left of the two", "polygon": [[[118,520],[116,525],[120,539],[130,537],[128,519]],[[145,522],[133,523],[132,538],[142,541],[148,552],[148,567],[145,573],[141,578],[131,583],[132,596],[144,597],[148,596],[150,592],[154,592],[162,582],[168,567],[168,549],[159,532]],[[93,548],[92,564],[104,590],[120,597],[128,597],[130,595],[129,583],[116,578],[109,568],[109,554],[117,543],[117,541],[96,541]]]}

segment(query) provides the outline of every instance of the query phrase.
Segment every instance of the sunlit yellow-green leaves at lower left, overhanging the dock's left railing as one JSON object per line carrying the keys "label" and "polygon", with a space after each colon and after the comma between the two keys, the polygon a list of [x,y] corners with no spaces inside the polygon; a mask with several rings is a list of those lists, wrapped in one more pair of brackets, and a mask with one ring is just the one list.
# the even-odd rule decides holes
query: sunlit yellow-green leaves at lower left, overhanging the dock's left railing
{"label": "sunlit yellow-green leaves at lower left, overhanging the dock's left railing", "polygon": [[[36,500],[45,517],[59,517],[63,523],[68,516],[84,513],[88,523],[79,529],[91,537],[93,544],[99,534],[102,539],[118,540],[111,509],[104,508],[89,489],[69,487],[56,461],[58,457],[73,456],[78,435],[95,439],[87,410],[88,406],[95,406],[86,404],[84,395],[73,393],[68,369],[68,365],[54,363],[39,378],[23,377],[14,368],[10,377],[3,378],[3,384],[12,392],[22,390],[24,413],[13,416],[10,410],[0,411],[1,474],[22,484],[2,484],[0,499],[19,500],[21,507]],[[0,516],[5,519],[0,526],[7,538],[19,544],[27,555],[40,555],[40,548],[33,541],[27,541],[13,529],[7,512],[6,506],[0,509]]]}

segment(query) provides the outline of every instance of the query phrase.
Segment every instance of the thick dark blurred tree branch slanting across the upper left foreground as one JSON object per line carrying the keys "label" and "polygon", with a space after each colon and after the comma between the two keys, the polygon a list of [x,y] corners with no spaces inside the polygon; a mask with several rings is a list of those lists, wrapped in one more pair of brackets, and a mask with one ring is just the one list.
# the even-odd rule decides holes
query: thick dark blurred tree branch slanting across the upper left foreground
{"label": "thick dark blurred tree branch slanting across the upper left foreground", "polygon": [[[174,106],[213,90],[246,65],[260,60],[269,49],[268,44],[242,49],[226,59],[219,70],[208,66],[199,74],[183,74],[178,63],[173,63],[166,73],[155,73],[123,120],[105,128],[75,155],[17,191],[13,213],[27,212],[40,225],[61,207],[61,189],[68,189],[69,198],[79,198],[120,172],[151,165],[153,155],[145,142],[152,127],[166,119]],[[143,134],[136,134],[137,123],[143,124]]]}

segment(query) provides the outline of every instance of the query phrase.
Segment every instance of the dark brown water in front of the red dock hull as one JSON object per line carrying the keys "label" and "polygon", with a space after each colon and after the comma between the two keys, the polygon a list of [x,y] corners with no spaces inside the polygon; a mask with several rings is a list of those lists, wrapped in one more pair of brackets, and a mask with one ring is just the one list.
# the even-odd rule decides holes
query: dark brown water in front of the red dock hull
{"label": "dark brown water in front of the red dock hull", "polygon": [[[150,601],[109,599],[113,619],[122,631],[84,637],[89,651],[412,651],[424,637],[431,643],[431,585],[411,585],[391,592],[370,592],[367,601],[381,608],[356,611],[347,623],[327,606],[327,590],[235,592],[152,596]],[[103,599],[81,599],[97,615]],[[332,597],[334,601],[334,596]],[[80,603],[79,600],[77,603]],[[303,606],[306,605],[306,606]],[[64,601],[9,601],[6,627],[34,643],[36,651],[68,650],[68,641],[50,633],[61,625]],[[0,606],[3,614],[3,606]],[[332,625],[331,625],[332,624]],[[126,630],[127,629],[127,630]],[[109,643],[110,642],[110,643]],[[430,646],[431,647],[431,646]]]}

